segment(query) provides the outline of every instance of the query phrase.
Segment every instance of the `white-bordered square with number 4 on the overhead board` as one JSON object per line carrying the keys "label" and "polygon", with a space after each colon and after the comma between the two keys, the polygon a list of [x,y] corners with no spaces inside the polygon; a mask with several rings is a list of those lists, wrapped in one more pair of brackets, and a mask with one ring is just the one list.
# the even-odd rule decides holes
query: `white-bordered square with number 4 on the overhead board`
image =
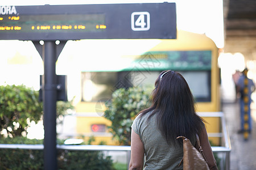
{"label": "white-bordered square with number 4 on the overhead board", "polygon": [[148,12],[131,13],[131,29],[133,31],[147,31],[150,29],[150,14]]}

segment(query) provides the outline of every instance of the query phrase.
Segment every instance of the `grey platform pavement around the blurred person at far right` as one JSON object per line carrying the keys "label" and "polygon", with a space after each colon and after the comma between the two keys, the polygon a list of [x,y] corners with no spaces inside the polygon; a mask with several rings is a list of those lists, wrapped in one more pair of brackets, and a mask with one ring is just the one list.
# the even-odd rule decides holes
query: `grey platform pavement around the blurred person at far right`
{"label": "grey platform pavement around the blurred person at far right", "polygon": [[243,134],[238,134],[240,129],[240,105],[239,102],[222,103],[226,125],[230,135],[230,170],[256,169],[256,103],[251,103],[251,117],[253,130],[249,139],[245,141]]}

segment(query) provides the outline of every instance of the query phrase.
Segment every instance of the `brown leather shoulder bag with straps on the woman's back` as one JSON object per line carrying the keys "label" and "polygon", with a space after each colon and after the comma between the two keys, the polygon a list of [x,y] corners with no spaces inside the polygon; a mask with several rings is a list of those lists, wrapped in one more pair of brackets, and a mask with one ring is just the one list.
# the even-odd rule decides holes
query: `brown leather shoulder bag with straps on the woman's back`
{"label": "brown leather shoulder bag with straps on the woman's back", "polygon": [[[185,170],[191,170],[191,169],[204,169],[208,170],[208,164],[207,160],[205,159],[203,149],[200,145],[199,137],[196,135],[197,145],[199,147],[199,150],[197,150],[189,141],[188,138],[180,136],[177,137],[177,139],[182,138],[183,139],[183,159],[180,161],[183,161],[183,169]],[[179,166],[180,166],[179,164]]]}

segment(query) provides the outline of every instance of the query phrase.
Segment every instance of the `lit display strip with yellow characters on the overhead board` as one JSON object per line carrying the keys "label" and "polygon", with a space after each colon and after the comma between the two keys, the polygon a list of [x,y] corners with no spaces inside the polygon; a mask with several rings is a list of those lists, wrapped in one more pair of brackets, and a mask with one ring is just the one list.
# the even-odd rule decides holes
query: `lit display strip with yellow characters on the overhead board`
{"label": "lit display strip with yellow characters on the overhead board", "polygon": [[7,32],[95,32],[106,29],[104,14],[5,15],[0,30]]}

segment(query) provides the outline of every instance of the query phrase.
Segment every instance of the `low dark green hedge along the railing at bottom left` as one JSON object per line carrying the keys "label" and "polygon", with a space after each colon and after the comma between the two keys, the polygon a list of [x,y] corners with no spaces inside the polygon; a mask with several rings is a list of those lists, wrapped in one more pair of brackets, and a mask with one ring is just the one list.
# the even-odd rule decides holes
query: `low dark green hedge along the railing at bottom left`
{"label": "low dark green hedge along the railing at bottom left", "polygon": [[[19,141],[19,142],[16,142]],[[0,139],[0,143],[42,144],[27,138]],[[43,150],[0,149],[0,169],[44,169]],[[57,151],[58,169],[114,170],[110,156],[101,151]]]}

